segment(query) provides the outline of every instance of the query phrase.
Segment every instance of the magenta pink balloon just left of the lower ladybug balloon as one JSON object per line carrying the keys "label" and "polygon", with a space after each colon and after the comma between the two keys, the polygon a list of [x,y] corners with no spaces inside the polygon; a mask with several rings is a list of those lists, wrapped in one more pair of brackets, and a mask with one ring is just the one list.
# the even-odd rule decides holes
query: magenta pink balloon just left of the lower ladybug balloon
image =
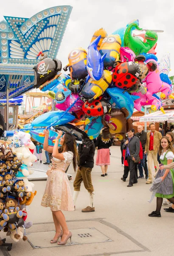
{"label": "magenta pink balloon just left of the lower ladybug balloon", "polygon": [[[67,108],[69,108],[75,102],[75,100],[78,99],[78,97],[79,97],[79,94],[71,93],[70,96],[67,97],[65,102],[60,103],[60,104],[57,103],[56,108],[58,108],[59,110],[66,111]],[[73,105],[73,107],[70,108],[69,112],[79,111],[83,104],[84,104],[84,102],[81,99],[78,99],[78,101],[75,103],[75,105]]]}

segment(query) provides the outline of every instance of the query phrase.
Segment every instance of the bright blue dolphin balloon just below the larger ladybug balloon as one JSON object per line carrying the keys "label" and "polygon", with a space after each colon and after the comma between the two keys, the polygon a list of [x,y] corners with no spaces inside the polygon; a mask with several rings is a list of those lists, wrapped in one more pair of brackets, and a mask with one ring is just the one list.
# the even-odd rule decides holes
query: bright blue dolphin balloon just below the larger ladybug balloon
{"label": "bright blue dolphin balloon just below the larger ladybug balloon", "polygon": [[115,108],[126,108],[129,111],[129,116],[126,118],[130,118],[134,111],[134,101],[140,97],[130,95],[128,92],[124,92],[123,89],[118,87],[107,88],[106,91],[115,103]]}

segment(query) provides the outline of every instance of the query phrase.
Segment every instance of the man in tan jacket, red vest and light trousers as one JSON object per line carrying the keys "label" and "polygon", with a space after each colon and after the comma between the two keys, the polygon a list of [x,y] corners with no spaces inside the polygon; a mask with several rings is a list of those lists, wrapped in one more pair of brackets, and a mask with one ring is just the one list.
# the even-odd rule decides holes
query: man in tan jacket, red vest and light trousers
{"label": "man in tan jacket, red vest and light trousers", "polygon": [[147,133],[146,145],[144,154],[147,153],[148,156],[148,170],[149,170],[149,179],[146,181],[146,184],[152,183],[152,164],[154,161],[154,166],[159,169],[159,163],[157,161],[157,153],[160,147],[160,139],[162,134],[159,131],[155,131],[155,123],[151,122],[149,124],[150,131]]}

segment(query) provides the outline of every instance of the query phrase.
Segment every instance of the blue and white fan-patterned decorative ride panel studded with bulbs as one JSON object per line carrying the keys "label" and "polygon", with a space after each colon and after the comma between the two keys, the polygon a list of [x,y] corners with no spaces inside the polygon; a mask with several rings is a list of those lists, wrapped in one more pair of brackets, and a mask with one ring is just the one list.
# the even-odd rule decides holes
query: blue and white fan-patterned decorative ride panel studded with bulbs
{"label": "blue and white fan-patterned decorative ride panel studded with bulbs", "polygon": [[55,6],[33,17],[7,17],[0,22],[0,53],[3,64],[36,64],[38,53],[56,58],[71,6]]}

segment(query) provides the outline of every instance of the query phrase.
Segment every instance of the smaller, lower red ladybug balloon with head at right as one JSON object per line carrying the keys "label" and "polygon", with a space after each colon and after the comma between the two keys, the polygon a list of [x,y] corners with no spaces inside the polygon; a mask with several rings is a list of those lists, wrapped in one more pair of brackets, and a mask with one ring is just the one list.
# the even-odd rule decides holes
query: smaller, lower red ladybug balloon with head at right
{"label": "smaller, lower red ladybug balloon with head at right", "polygon": [[102,99],[102,96],[100,96],[92,103],[85,102],[82,110],[88,116],[102,116],[104,113],[111,111],[111,104],[107,99]]}

